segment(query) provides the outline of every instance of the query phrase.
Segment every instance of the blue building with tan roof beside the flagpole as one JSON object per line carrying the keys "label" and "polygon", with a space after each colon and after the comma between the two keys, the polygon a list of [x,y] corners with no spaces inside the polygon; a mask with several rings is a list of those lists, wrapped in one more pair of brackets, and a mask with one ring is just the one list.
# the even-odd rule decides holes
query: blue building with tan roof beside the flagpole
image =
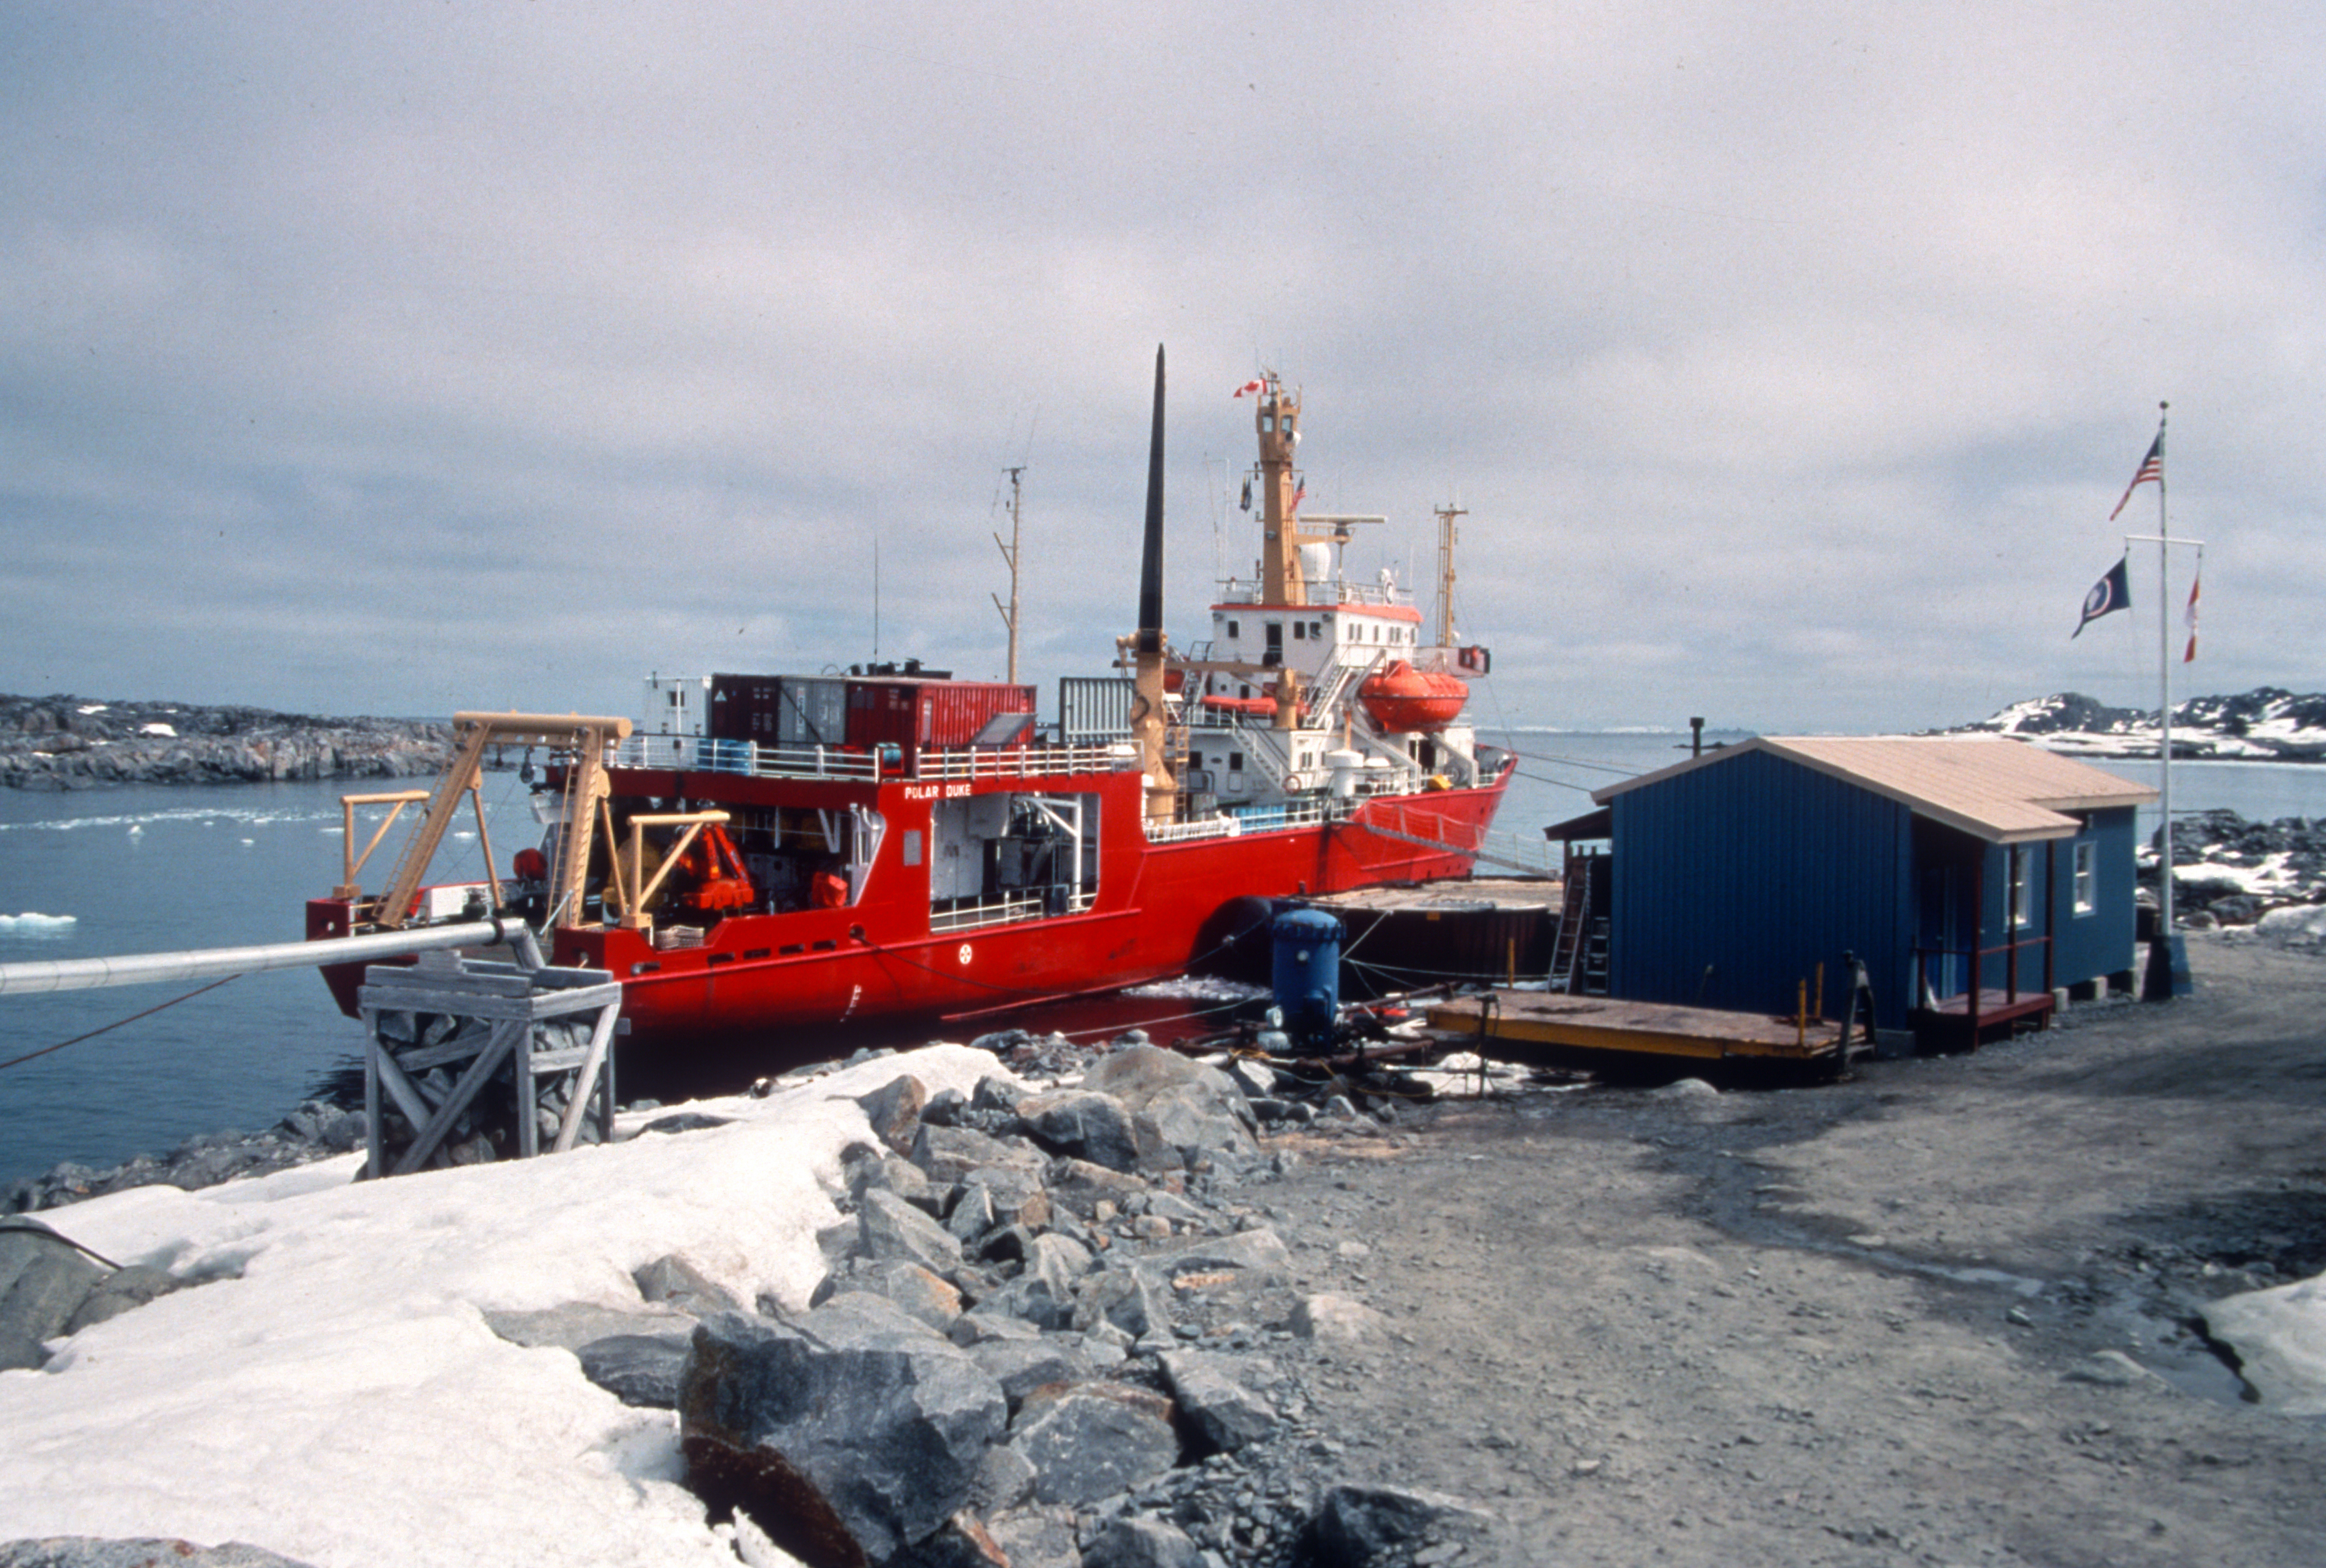
{"label": "blue building with tan roof beside the flagpole", "polygon": [[1975,1040],[2131,986],[2156,791],[2026,742],[1763,735],[1591,798],[1612,996],[1791,1014],[1824,965],[1838,1014],[1856,954],[1877,1026]]}

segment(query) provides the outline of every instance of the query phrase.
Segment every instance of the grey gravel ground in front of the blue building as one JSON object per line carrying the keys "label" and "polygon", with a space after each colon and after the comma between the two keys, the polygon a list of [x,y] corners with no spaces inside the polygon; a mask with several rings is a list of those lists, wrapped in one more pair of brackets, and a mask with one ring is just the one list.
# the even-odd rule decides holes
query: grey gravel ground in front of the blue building
{"label": "grey gravel ground in front of the blue building", "polygon": [[1270,1140],[1303,1284],[1393,1326],[1312,1424],[1512,1563],[2326,1563],[2326,1428],[2196,1324],[2326,1270],[2326,961],[2189,947],[2193,998],[1833,1086]]}

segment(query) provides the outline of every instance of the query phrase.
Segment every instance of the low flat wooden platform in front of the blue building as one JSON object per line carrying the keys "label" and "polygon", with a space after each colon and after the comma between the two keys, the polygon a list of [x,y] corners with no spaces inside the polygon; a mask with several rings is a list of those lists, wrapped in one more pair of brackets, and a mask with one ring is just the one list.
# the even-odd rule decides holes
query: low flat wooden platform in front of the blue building
{"label": "low flat wooden platform in front of the blue building", "polygon": [[1607,996],[1561,996],[1551,991],[1493,991],[1461,996],[1430,1007],[1430,1028],[1447,1035],[1484,1035],[1500,1047],[1547,1047],[1561,1052],[1614,1052],[1626,1056],[1679,1056],[1689,1061],[1784,1061],[1835,1063],[1842,1026],[1765,1012],[1719,1012],[1665,1003],[1621,1003]]}

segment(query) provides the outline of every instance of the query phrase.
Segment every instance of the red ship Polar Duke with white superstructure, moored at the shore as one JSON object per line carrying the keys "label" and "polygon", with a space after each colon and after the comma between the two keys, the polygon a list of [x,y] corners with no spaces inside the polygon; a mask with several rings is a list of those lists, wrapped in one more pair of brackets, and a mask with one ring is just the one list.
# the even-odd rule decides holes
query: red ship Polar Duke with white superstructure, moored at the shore
{"label": "red ship Polar Duke with white superstructure, moored at the shore", "polygon": [[[1061,682],[1040,733],[1033,686],[912,665],[656,679],[647,726],[458,714],[461,754],[386,889],[363,893],[349,842],[307,935],[523,912],[551,963],[621,982],[635,1054],[1112,991],[1207,958],[1237,900],[1468,875],[1512,758],[1458,721],[1486,658],[1451,647],[1454,514],[1440,637],[1424,644],[1386,572],[1351,584],[1335,570],[1349,528],[1379,519],[1298,516],[1300,407],[1275,375],[1256,426],[1254,579],[1226,584],[1210,640],[1172,651],[1156,354],[1140,630],[1116,656],[1128,677]],[[544,842],[507,875],[428,886],[486,754],[516,744],[556,756],[535,796]],[[421,798],[354,796],[349,826],[354,803]],[[323,975],[354,1014],[361,965]]]}

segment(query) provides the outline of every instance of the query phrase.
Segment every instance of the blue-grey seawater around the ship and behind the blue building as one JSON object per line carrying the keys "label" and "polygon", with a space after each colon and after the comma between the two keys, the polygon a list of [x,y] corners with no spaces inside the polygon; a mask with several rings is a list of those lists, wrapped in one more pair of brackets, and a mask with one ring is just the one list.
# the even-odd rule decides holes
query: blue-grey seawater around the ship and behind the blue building
{"label": "blue-grey seawater around the ship and behind the blue building", "polygon": [[[1519,754],[1496,821],[1540,833],[1591,810],[1605,784],[1689,756],[1672,733],[1486,733]],[[1707,740],[1740,735],[1707,733]],[[2103,768],[2154,784],[2154,761]],[[412,782],[419,784],[419,782]],[[340,882],[342,793],[388,782],[114,786],[77,793],[0,791],[0,963],[295,942],[305,900]],[[2228,807],[2245,817],[2326,814],[2326,768],[2177,763],[2175,814]],[[361,807],[356,847],[386,807]],[[416,807],[407,807],[405,821]],[[402,842],[400,821],[365,870],[379,886]],[[2154,826],[2149,821],[2142,828]],[[502,865],[533,842],[526,789],[486,777],[486,831]],[[437,879],[481,868],[475,824],[447,840]],[[72,1159],[116,1163],[191,1133],[267,1126],[337,1068],[361,1059],[361,1028],[340,1017],[314,970],[244,975],[174,1005],[193,984],[0,996],[0,1061],[88,1033],[81,1045],[0,1070],[0,1179]],[[1126,1024],[1140,1021],[1126,1010]],[[979,1028],[1005,1026],[982,1021]]]}

